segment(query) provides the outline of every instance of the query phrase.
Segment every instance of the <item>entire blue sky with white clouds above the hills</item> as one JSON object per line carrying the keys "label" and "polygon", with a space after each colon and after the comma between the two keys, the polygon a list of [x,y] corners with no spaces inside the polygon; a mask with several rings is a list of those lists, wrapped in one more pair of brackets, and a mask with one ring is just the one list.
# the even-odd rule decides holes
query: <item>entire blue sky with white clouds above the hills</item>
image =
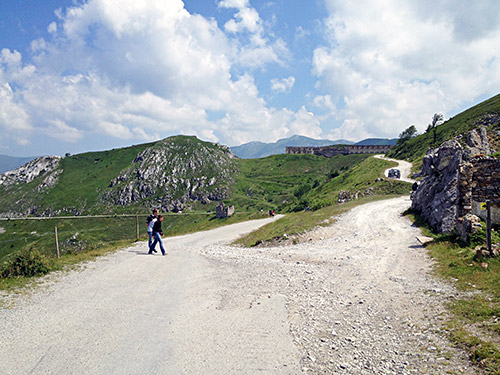
{"label": "entire blue sky with white clouds above the hills", "polygon": [[0,0],[0,154],[423,132],[499,47],[498,0]]}

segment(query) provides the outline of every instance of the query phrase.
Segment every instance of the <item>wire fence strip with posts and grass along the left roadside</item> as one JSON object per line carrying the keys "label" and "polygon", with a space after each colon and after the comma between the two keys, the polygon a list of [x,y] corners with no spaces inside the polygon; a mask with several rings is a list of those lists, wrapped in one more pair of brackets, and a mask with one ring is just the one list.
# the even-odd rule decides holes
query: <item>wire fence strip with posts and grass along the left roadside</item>
{"label": "wire fence strip with posts and grass along the left roadside", "polygon": [[[242,212],[244,213],[244,212]],[[119,242],[147,239],[149,213],[0,218],[0,262],[23,249],[59,257]],[[163,231],[203,229],[215,212],[162,213]]]}

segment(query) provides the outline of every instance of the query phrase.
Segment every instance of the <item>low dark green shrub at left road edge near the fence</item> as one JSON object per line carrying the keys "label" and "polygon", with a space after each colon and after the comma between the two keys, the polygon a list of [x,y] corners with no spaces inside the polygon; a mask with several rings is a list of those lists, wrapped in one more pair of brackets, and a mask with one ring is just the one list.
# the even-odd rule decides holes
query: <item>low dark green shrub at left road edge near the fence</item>
{"label": "low dark green shrub at left road edge near the fence", "polygon": [[23,250],[10,262],[4,263],[1,277],[36,276],[50,271],[49,262],[36,250]]}

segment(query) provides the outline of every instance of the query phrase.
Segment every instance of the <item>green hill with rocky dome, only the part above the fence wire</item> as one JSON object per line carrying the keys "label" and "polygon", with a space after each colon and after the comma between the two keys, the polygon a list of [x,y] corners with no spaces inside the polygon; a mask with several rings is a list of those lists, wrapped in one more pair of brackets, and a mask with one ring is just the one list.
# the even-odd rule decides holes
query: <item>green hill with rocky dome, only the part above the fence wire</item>
{"label": "green hill with rocky dome, only the part above the fence wire", "polygon": [[[55,186],[0,185],[0,213],[14,216],[144,214],[214,211],[220,201],[238,211],[290,211],[305,195],[322,198],[335,177],[369,155],[272,155],[234,159],[222,146],[177,136],[127,148],[62,158]],[[343,177],[344,178],[344,177]],[[333,199],[334,201],[335,199]],[[170,207],[169,202],[182,202]]]}

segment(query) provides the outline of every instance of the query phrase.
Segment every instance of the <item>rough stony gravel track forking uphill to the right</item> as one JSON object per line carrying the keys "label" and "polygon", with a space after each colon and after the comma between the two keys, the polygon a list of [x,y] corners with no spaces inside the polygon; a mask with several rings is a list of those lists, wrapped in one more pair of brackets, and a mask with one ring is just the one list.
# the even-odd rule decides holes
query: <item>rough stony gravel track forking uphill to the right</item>
{"label": "rough stony gravel track forking uphill to the right", "polygon": [[285,296],[303,373],[475,374],[442,330],[457,293],[431,276],[419,230],[401,216],[408,206],[402,197],[357,207],[296,246],[205,252],[234,291],[226,303]]}

